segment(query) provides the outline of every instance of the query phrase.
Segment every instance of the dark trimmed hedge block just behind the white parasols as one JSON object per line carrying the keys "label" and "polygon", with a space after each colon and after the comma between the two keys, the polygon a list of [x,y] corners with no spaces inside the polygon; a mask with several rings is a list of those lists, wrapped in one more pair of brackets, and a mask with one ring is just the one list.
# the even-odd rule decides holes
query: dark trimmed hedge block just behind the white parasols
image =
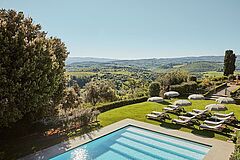
{"label": "dark trimmed hedge block just behind the white parasols", "polygon": [[178,85],[171,85],[170,90],[177,91],[181,95],[187,95],[189,93],[195,93],[198,88],[197,82],[189,81],[189,82],[183,82]]}

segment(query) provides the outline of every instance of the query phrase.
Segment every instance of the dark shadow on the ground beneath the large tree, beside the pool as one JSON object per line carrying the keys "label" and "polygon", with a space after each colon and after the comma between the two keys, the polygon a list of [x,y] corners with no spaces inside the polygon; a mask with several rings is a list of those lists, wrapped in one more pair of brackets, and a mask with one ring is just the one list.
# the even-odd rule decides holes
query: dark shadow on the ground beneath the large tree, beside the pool
{"label": "dark shadow on the ground beneath the large tree, beside the pool", "polygon": [[[54,145],[59,145],[58,151],[65,152],[70,147],[68,143],[69,137],[82,136],[83,139],[91,139],[93,137],[91,131],[99,130],[99,128],[100,125],[94,123],[59,135],[46,136],[42,133],[36,133],[18,139],[0,141],[0,143],[4,144],[0,146],[0,160],[17,159]],[[44,157],[42,157],[42,155],[36,155],[36,159],[44,159]]]}

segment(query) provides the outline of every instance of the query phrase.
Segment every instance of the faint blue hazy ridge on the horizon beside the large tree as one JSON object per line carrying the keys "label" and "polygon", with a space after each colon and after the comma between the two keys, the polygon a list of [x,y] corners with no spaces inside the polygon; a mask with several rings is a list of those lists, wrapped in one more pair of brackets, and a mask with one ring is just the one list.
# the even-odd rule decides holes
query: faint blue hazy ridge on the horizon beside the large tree
{"label": "faint blue hazy ridge on the horizon beside the large tree", "polygon": [[80,63],[80,62],[100,62],[100,63],[105,63],[105,62],[111,62],[115,61],[116,59],[110,59],[110,58],[93,58],[93,57],[68,57],[66,60],[66,64],[71,64],[71,63]]}

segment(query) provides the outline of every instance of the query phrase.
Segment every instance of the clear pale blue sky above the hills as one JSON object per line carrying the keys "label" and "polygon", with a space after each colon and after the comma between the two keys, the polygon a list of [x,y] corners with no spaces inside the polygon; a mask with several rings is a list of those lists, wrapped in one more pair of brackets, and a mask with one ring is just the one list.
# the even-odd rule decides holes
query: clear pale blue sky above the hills
{"label": "clear pale blue sky above the hills", "polygon": [[75,57],[240,52],[240,0],[0,0],[0,8],[23,11]]}

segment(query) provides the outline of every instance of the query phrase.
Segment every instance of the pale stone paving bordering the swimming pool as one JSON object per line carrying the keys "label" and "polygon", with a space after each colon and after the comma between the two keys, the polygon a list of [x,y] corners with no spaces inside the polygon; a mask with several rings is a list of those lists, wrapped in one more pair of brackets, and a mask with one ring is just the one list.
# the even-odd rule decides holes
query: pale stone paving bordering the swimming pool
{"label": "pale stone paving bordering the swimming pool", "polygon": [[231,153],[234,150],[233,143],[228,143],[228,142],[216,140],[213,138],[200,137],[191,133],[182,132],[182,131],[173,130],[173,129],[167,129],[157,125],[136,121],[133,119],[124,119],[122,121],[119,121],[109,126],[106,126],[104,128],[101,128],[100,130],[93,131],[89,134],[85,134],[83,136],[74,138],[72,140],[59,143],[57,145],[46,148],[34,154],[20,158],[20,160],[47,160],[51,157],[64,153],[81,144],[89,142],[95,138],[99,138],[105,134],[111,133],[127,125],[138,126],[138,127],[155,131],[155,132],[160,132],[160,133],[176,136],[179,138],[184,138],[187,140],[199,142],[202,144],[210,145],[212,147],[209,150],[208,154],[204,157],[204,160],[228,160]]}

